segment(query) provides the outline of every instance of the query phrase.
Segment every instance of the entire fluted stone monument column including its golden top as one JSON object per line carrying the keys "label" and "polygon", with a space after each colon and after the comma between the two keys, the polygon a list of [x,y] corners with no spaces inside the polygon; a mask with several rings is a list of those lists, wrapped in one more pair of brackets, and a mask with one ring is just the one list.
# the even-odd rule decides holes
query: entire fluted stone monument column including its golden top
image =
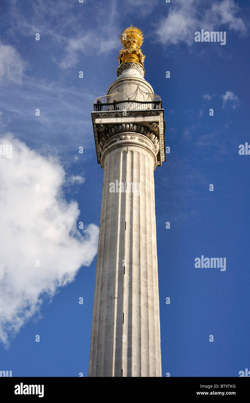
{"label": "entire fluted stone monument column including its golden top", "polygon": [[129,27],[121,42],[118,79],[92,112],[104,173],[89,376],[161,376],[153,171],[165,124],[144,79],[142,32]]}

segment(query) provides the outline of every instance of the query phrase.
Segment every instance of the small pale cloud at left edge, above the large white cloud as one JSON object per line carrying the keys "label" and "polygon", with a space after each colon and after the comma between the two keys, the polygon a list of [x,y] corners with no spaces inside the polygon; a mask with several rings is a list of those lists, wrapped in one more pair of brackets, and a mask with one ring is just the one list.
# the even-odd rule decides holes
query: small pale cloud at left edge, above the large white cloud
{"label": "small pale cloud at left edge, above the large white cloud", "polygon": [[21,84],[27,64],[13,46],[0,41],[0,83]]}

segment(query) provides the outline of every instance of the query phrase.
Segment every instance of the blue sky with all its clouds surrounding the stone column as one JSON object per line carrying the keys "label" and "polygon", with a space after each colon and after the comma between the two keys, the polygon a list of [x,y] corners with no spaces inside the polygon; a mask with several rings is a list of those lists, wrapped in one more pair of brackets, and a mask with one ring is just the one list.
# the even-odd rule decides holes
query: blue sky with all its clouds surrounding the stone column
{"label": "blue sky with all its clouds surrounding the stone column", "polygon": [[[1,2],[0,370],[87,376],[103,179],[91,111],[130,24],[170,147],[155,170],[162,375],[250,369],[249,15],[244,0]],[[201,29],[226,44],[194,42]],[[202,255],[226,270],[195,268]]]}

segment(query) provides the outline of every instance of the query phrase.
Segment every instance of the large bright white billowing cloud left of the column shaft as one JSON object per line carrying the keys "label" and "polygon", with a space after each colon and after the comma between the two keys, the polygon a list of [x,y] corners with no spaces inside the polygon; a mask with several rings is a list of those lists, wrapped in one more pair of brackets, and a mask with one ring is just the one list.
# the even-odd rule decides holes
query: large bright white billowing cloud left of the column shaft
{"label": "large bright white billowing cloud left of the column shaft", "polygon": [[79,231],[78,205],[63,198],[65,172],[54,158],[11,135],[0,144],[12,144],[12,158],[0,156],[0,339],[8,346],[45,295],[53,297],[91,264],[99,229]]}

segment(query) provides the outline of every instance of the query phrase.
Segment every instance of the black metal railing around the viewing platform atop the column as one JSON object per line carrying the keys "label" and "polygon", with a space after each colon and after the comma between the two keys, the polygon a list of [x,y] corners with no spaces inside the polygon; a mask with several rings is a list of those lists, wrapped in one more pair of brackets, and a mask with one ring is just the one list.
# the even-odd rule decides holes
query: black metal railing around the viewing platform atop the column
{"label": "black metal railing around the viewing platform atop the column", "polygon": [[96,102],[94,104],[95,112],[103,112],[107,110],[119,110],[120,112],[125,112],[128,110],[146,110],[146,109],[161,109],[161,101],[118,101],[118,102]]}

